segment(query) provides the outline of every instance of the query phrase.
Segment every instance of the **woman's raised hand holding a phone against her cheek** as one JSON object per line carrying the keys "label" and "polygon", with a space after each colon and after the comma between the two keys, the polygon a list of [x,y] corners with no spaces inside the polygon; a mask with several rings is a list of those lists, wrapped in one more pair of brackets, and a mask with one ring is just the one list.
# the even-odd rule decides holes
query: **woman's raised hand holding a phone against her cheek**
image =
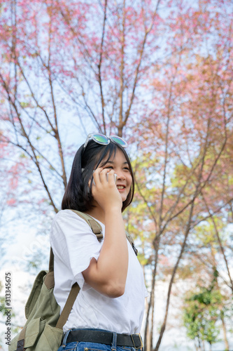
{"label": "woman's raised hand holding a phone against her cheek", "polygon": [[[106,174],[108,173],[108,181]],[[122,199],[115,185],[114,171],[98,167],[93,173],[92,195],[99,206],[106,211],[110,208],[122,208]]]}

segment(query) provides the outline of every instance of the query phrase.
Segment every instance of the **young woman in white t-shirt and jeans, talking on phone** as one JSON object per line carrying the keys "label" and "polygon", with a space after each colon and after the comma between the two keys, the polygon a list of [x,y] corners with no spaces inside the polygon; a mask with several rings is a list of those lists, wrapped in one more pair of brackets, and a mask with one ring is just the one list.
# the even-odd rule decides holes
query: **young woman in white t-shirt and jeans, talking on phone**
{"label": "young woman in white t-shirt and jeans, talking on phone", "polygon": [[[134,196],[126,146],[117,136],[88,135],[73,160],[62,211],[52,223],[54,293],[61,310],[71,286],[80,286],[59,351],[142,350],[139,332],[147,292],[122,219]],[[104,239],[99,241],[71,210],[97,220]]]}

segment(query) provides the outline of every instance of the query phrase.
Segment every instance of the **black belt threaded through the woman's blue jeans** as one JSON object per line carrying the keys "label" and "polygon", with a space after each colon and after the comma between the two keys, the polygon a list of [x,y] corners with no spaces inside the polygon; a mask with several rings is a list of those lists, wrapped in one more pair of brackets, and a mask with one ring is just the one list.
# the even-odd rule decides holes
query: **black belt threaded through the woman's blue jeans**
{"label": "black belt threaded through the woman's blue jeans", "polygon": [[[116,334],[117,346],[134,347],[136,350],[143,347],[140,334]],[[113,333],[111,331],[79,329],[69,331],[66,343],[83,341],[85,343],[100,343],[111,345],[113,343]]]}

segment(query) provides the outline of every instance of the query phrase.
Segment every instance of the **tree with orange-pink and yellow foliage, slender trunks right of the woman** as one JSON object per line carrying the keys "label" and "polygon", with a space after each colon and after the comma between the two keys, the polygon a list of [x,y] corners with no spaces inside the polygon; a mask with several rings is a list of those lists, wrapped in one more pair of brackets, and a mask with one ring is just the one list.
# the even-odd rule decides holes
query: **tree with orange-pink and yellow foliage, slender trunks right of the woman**
{"label": "tree with orange-pink and yellow foliage, slender trunks right of the woman", "polygon": [[[154,278],[151,282],[152,291],[147,325],[150,312],[152,316],[154,313],[153,290],[156,289],[155,276],[158,252],[161,249],[161,238],[162,236],[166,238],[166,232],[170,231],[169,225],[174,226],[176,216],[180,220],[179,225],[177,225],[178,232],[182,232],[181,228],[183,227],[187,228],[181,241],[180,256],[177,256],[178,259],[174,264],[167,296],[167,312],[155,350],[160,347],[165,330],[171,286],[185,251],[190,230],[209,216],[209,213],[206,213],[204,203],[200,201],[201,194],[206,191],[205,189],[209,190],[211,184],[211,213],[221,211],[232,203],[232,198],[228,197],[227,201],[223,201],[223,197],[219,197],[219,192],[215,191],[220,181],[220,174],[229,174],[231,169],[230,158],[226,156],[228,167],[223,170],[223,173],[219,172],[220,164],[227,155],[225,151],[227,145],[232,143],[230,122],[232,120],[232,83],[230,79],[232,68],[228,60],[229,55],[232,55],[232,50],[228,45],[228,40],[231,41],[228,34],[231,33],[232,18],[231,16],[227,18],[226,27],[223,26],[224,29],[220,26],[221,15],[216,9],[218,19],[215,28],[219,32],[217,33],[216,45],[211,46],[214,54],[208,50],[208,47],[205,54],[204,52],[201,55],[197,54],[195,45],[197,43],[200,45],[200,41],[196,41],[195,36],[199,37],[200,31],[202,31],[200,26],[203,25],[204,18],[209,29],[213,25],[213,13],[207,8],[208,4],[205,1],[200,4],[198,11],[192,6],[188,9],[181,6],[179,7],[181,14],[177,15],[176,13],[177,17],[174,18],[175,16],[172,17],[173,13],[169,18],[169,20],[173,20],[173,28],[176,28],[176,24],[183,35],[182,37],[174,35],[172,42],[169,42],[174,49],[174,55],[167,58],[167,64],[162,62],[161,65],[154,67],[153,86],[155,90],[150,91],[157,103],[152,106],[145,105],[145,110],[142,112],[146,121],[143,133],[141,133],[139,122],[139,125],[134,128],[134,137],[132,138],[135,143],[138,142],[138,150],[145,150],[141,151],[143,157],[139,158],[139,163],[145,159],[151,161],[148,161],[147,168],[141,171],[142,176],[139,178],[141,179],[141,182],[139,181],[141,199],[148,206],[148,220],[150,220],[150,225],[153,222],[155,233],[152,239]],[[196,18],[194,22],[190,20],[191,16],[192,20]],[[195,23],[192,28],[190,28],[191,22]],[[206,36],[207,41],[211,39],[209,32],[205,32],[205,29],[203,35]],[[221,58],[220,55],[222,55]],[[153,79],[153,75],[151,79]],[[153,160],[154,166],[151,166]],[[176,172],[173,176],[175,166]],[[150,174],[147,177],[148,173]],[[157,179],[152,176],[153,174],[157,175]],[[152,179],[154,186],[151,185]],[[174,189],[171,188],[171,182],[173,182]],[[149,196],[145,185],[152,189]],[[187,213],[188,209],[190,210],[189,214]],[[187,215],[184,216],[184,213]],[[183,216],[182,220],[181,216]],[[146,220],[143,218],[141,226],[145,222]],[[153,321],[153,317],[151,318]],[[153,329],[153,322],[151,329]],[[152,336],[148,350],[152,349]],[[146,335],[144,339],[146,340]]]}

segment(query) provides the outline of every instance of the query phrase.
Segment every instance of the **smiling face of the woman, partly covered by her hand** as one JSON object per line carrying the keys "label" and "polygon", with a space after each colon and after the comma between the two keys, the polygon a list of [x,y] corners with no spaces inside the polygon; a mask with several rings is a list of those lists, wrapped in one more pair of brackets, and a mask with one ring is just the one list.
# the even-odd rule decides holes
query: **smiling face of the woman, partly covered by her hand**
{"label": "smiling face of the woman, partly covered by her hand", "polygon": [[114,173],[118,176],[116,185],[123,202],[127,199],[127,195],[129,194],[129,190],[132,185],[132,175],[129,171],[129,164],[125,158],[125,155],[120,149],[116,150],[115,157],[112,157],[105,164],[106,159],[101,162],[100,166],[104,165],[103,168],[113,169]]}

